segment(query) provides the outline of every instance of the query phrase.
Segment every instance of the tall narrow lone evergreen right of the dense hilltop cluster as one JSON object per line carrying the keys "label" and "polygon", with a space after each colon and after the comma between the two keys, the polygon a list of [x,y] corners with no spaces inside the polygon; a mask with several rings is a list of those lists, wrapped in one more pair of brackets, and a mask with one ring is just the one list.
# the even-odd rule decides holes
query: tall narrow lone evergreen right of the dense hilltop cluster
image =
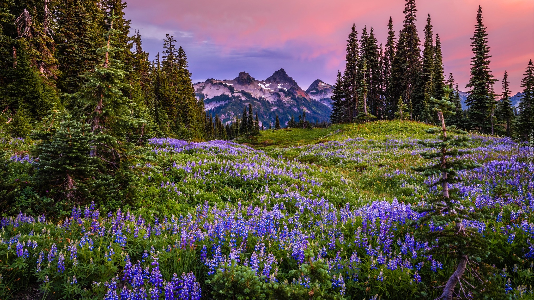
{"label": "tall narrow lone evergreen right of the dense hilltop cluster", "polygon": [[488,116],[489,85],[493,75],[490,74],[490,48],[486,36],[486,28],[482,20],[482,7],[478,6],[476,17],[475,35],[471,38],[473,59],[471,60],[471,78],[467,88],[468,92],[466,105],[469,106],[469,127],[480,130],[482,133],[491,131],[491,122]]}

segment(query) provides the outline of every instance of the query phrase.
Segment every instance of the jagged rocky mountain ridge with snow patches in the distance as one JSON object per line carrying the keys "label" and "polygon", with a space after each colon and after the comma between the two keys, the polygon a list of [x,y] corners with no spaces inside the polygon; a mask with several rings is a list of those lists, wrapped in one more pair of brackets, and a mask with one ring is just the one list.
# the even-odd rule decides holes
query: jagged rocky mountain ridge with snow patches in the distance
{"label": "jagged rocky mountain ridge with snow patches in the distance", "polygon": [[306,112],[307,120],[327,121],[331,112],[329,95],[331,85],[316,80],[307,91],[287,75],[284,69],[274,72],[265,80],[256,80],[246,72],[241,72],[233,80],[215,80],[194,84],[198,99],[203,99],[205,109],[218,114],[223,123],[242,117],[243,107],[251,104],[254,113],[258,112],[260,127],[269,128],[276,115],[284,127],[293,115]]}

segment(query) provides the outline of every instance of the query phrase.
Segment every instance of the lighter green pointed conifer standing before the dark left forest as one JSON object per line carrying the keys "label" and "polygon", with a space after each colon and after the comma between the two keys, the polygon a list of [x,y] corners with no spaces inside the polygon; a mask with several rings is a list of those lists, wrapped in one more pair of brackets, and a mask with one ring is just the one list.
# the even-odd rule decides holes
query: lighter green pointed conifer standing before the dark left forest
{"label": "lighter green pointed conifer standing before the dark left forest", "polygon": [[[69,97],[77,101],[80,112],[88,115],[93,135],[90,157],[98,159],[100,183],[99,191],[93,193],[100,203],[117,207],[123,201],[131,201],[137,196],[139,180],[138,165],[145,165],[142,148],[135,145],[133,130],[146,122],[132,117],[131,100],[121,90],[131,89],[125,83],[123,64],[114,58],[121,49],[114,46],[119,34],[111,27],[106,33],[107,43],[99,48],[101,64],[86,76],[85,88]],[[105,201],[105,202],[104,202]]]}

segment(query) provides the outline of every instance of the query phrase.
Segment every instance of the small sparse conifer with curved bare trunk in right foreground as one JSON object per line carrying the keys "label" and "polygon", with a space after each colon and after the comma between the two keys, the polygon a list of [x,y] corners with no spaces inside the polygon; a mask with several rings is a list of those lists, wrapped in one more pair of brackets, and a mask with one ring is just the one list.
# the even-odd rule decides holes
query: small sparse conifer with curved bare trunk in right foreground
{"label": "small sparse conifer with curved bare trunk in right foreground", "polygon": [[[459,150],[453,147],[466,147],[470,138],[467,132],[456,129],[456,126],[446,126],[445,118],[455,114],[456,107],[449,101],[449,94],[452,89],[444,88],[442,100],[431,98],[436,104],[433,108],[441,123],[441,128],[430,128],[427,133],[440,133],[437,142],[419,140],[419,144],[434,148],[435,150],[421,152],[425,159],[439,159],[431,165],[422,165],[413,170],[421,172],[423,176],[440,175],[441,178],[434,185],[441,185],[441,194],[431,195],[422,206],[415,207],[415,210],[422,213],[416,223],[418,227],[425,227],[425,230],[417,231],[421,240],[429,241],[429,246],[435,254],[446,254],[458,261],[456,271],[454,271],[446,282],[443,295],[444,300],[452,300],[457,294],[454,289],[458,285],[460,278],[464,275],[469,266],[470,272],[478,278],[476,266],[481,266],[481,256],[487,251],[482,235],[475,228],[469,227],[467,222],[477,220],[480,214],[469,207],[465,207],[459,201],[457,188],[450,188],[450,185],[458,183],[458,171],[469,170],[481,167],[480,164],[466,159],[452,159],[472,153],[470,150]],[[454,136],[451,133],[458,133]],[[469,261],[473,261],[469,263]],[[477,264],[474,264],[477,262]],[[461,283],[460,283],[461,284]]]}

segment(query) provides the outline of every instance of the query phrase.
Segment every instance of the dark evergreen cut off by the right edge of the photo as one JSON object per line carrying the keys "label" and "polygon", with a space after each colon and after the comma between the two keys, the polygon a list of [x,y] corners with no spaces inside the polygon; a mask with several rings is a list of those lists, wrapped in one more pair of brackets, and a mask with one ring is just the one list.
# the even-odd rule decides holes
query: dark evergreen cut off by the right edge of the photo
{"label": "dark evergreen cut off by the right edge of the photo", "polygon": [[529,61],[521,87],[524,89],[521,102],[519,102],[519,115],[514,123],[514,137],[518,140],[528,140],[534,135],[534,65],[532,65],[532,60]]}

